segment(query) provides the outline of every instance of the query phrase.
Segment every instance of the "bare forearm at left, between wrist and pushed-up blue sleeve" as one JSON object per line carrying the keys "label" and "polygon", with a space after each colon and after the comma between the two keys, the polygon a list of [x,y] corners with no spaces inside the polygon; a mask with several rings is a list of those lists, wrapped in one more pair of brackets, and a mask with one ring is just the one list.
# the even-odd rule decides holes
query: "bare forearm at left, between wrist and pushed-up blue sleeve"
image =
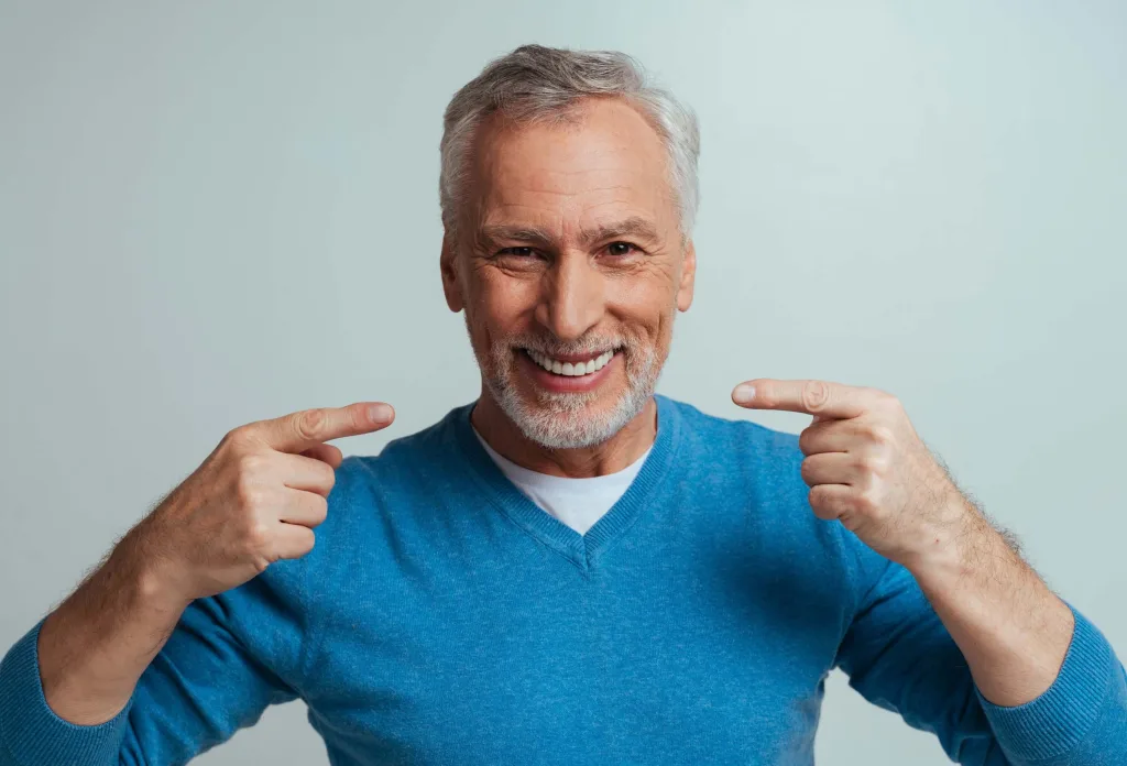
{"label": "bare forearm at left, between wrist and pushed-up blue sleeve", "polygon": [[135,533],[39,630],[44,696],[72,723],[98,724],[122,711],[187,606],[168,593]]}

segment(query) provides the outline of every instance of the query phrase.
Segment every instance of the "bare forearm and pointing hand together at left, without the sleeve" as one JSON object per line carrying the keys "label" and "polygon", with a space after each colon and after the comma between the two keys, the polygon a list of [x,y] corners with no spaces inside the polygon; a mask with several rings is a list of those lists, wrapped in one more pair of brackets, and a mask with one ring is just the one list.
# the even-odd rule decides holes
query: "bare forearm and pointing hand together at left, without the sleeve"
{"label": "bare forearm and pointing hand together at left, without the sleeve", "polygon": [[308,410],[231,431],[43,622],[39,676],[52,711],[77,724],[109,721],[194,599],[308,553],[341,458],[322,442],[391,421],[390,408],[373,412]]}

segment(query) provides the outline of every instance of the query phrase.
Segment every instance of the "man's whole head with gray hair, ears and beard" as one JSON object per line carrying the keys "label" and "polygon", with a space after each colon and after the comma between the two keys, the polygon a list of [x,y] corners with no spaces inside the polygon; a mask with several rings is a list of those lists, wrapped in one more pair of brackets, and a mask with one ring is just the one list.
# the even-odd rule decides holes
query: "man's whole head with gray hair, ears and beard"
{"label": "man's whole head with gray hair, ears and beard", "polygon": [[446,108],[446,302],[529,439],[602,443],[653,394],[692,302],[698,135],[613,52],[520,47]]}

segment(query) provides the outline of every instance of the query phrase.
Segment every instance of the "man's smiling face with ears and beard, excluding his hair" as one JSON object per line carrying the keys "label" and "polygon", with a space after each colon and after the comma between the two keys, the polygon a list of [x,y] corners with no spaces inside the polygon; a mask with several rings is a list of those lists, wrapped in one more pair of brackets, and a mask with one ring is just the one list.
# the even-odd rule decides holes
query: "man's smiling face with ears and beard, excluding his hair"
{"label": "man's smiling face with ears and beard, excluding his hair", "polygon": [[442,274],[486,391],[545,447],[605,442],[642,411],[692,302],[660,137],[615,99],[565,125],[494,115],[469,185]]}

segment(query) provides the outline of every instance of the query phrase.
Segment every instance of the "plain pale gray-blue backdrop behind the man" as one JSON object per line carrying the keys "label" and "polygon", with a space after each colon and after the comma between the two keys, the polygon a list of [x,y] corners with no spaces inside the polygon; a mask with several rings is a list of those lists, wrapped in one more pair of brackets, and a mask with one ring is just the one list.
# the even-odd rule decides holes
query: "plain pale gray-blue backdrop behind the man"
{"label": "plain pale gray-blue backdrop behind the man", "polygon": [[[0,0],[0,652],[230,428],[478,392],[438,276],[443,108],[522,43],[698,112],[659,391],[897,394],[1122,656],[1127,6]],[[293,703],[197,763],[325,764]],[[835,674],[819,764],[948,763]]]}

